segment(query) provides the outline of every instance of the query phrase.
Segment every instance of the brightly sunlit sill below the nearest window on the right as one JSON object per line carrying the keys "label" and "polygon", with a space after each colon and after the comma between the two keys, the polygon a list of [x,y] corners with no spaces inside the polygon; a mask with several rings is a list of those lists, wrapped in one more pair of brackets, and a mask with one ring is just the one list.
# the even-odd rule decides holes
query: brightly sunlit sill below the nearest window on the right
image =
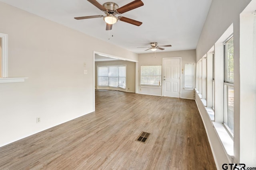
{"label": "brightly sunlit sill below the nearest window on the right", "polygon": [[228,134],[226,128],[223,123],[212,122],[213,126],[218,134],[218,137],[226,150],[226,153],[233,158],[234,156],[234,141]]}

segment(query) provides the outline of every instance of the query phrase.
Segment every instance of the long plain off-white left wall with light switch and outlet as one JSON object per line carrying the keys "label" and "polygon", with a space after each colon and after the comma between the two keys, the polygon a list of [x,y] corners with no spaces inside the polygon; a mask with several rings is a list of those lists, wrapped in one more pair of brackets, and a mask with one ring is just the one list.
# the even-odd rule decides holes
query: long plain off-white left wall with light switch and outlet
{"label": "long plain off-white left wall with light switch and outlet", "polygon": [[8,76],[28,77],[0,83],[0,146],[93,111],[93,51],[138,61],[136,53],[2,2],[0,16]]}

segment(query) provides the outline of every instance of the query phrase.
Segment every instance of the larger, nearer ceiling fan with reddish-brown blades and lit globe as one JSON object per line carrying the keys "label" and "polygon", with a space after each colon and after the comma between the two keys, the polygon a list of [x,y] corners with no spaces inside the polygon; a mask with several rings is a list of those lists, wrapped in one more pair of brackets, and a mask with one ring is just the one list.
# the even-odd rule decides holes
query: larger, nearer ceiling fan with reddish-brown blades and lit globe
{"label": "larger, nearer ceiling fan with reddish-brown blades and lit globe", "polygon": [[143,6],[143,2],[141,0],[134,0],[130,2],[129,4],[126,4],[119,8],[119,6],[114,2],[106,2],[103,5],[101,5],[96,0],[88,0],[91,4],[99,8],[102,12],[106,14],[106,16],[98,15],[98,16],[84,16],[84,17],[75,17],[76,20],[84,20],[89,18],[103,18],[103,20],[107,23],[106,30],[111,30],[112,25],[116,23],[118,20],[124,21],[127,23],[131,23],[133,25],[140,26],[142,22],[132,20],[130,18],[126,18],[123,16],[116,17],[116,14],[123,14],[125,12],[128,12],[130,10],[133,10],[135,8],[138,8],[140,6]]}

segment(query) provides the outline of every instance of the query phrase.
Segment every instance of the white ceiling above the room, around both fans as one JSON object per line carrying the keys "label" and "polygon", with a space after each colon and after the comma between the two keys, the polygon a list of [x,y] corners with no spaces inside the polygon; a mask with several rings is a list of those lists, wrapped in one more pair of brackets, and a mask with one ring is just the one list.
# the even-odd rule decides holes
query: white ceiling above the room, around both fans
{"label": "white ceiling above the room, around both fans", "polygon": [[[172,45],[172,47],[164,47],[165,52],[196,49],[212,2],[212,0],[142,0],[144,6],[118,15],[141,21],[142,25],[138,27],[118,21],[111,31],[106,31],[103,18],[74,19],[79,16],[104,15],[104,12],[87,0],[0,1],[138,54],[151,53],[150,50],[144,51],[146,48],[137,48],[150,47],[150,42]],[[98,2],[104,4],[108,0],[98,0]],[[132,0],[112,0],[112,2],[121,7]]]}

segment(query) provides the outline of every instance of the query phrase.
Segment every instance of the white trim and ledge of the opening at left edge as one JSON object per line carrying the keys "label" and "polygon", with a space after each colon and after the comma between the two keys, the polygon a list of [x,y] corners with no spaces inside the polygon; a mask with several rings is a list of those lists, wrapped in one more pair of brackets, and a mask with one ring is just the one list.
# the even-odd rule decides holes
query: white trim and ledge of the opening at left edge
{"label": "white trim and ledge of the opening at left edge", "polygon": [[2,77],[0,83],[24,82],[28,77],[8,77],[8,34],[0,33],[2,38]]}

